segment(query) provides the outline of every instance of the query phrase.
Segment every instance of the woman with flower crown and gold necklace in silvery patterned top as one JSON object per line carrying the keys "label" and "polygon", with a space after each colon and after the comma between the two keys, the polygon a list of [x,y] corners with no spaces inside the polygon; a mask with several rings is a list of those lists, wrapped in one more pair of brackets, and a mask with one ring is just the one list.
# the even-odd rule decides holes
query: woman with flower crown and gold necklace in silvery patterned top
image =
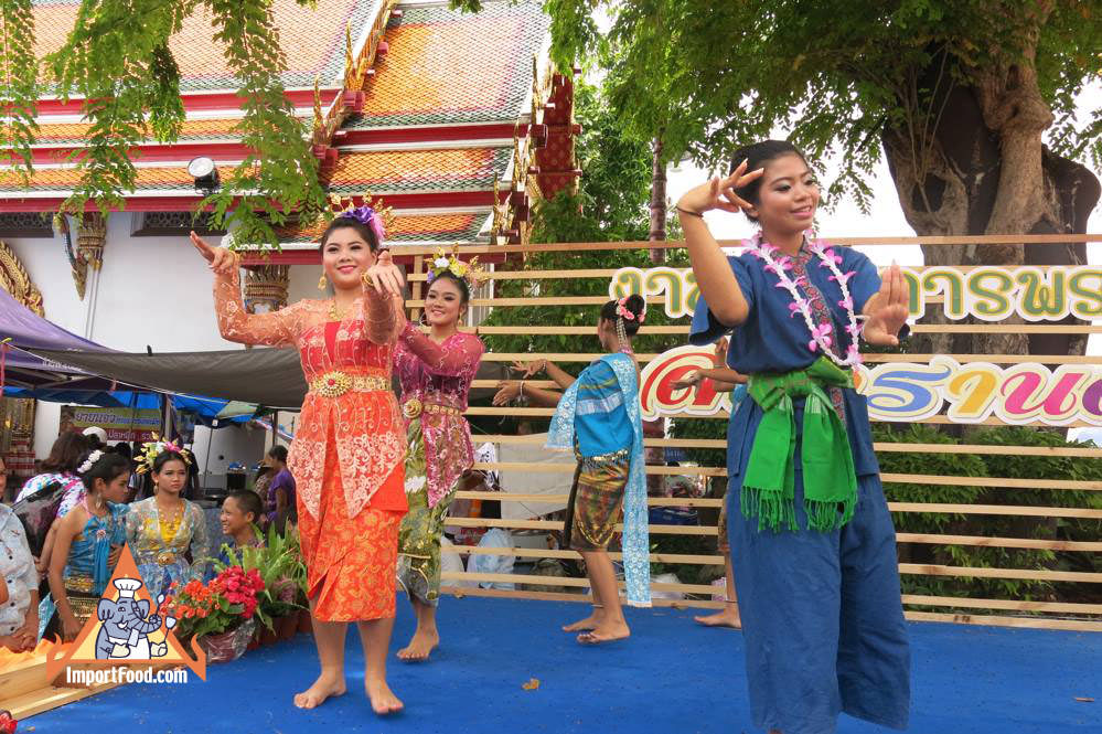
{"label": "woman with flower crown and gold necklace in silvery patterned top", "polygon": [[[126,540],[146,591],[154,600],[169,585],[202,578],[210,555],[203,509],[184,499],[192,457],[172,442],[154,440],[138,456],[138,472],[149,477],[153,496],[135,502],[126,518]],[[192,561],[188,562],[188,553]]]}

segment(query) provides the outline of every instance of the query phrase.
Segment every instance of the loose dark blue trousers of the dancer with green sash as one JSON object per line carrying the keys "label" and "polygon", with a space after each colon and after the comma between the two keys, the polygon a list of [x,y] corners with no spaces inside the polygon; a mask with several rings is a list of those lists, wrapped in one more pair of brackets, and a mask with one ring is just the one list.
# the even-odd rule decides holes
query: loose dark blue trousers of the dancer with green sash
{"label": "loose dark blue trousers of the dancer with green sash", "polygon": [[853,520],[831,533],[806,530],[800,469],[798,532],[759,531],[739,511],[739,491],[727,493],[750,709],[767,731],[830,734],[839,712],[907,727],[910,647],[896,533],[879,476],[857,485]]}

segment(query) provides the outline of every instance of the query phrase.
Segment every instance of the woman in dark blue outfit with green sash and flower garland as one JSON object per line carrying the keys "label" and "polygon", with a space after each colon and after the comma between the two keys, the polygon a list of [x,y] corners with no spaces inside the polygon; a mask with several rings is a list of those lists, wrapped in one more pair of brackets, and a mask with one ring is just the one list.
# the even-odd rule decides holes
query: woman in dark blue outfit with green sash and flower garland
{"label": "woman in dark blue outfit with green sash and flower garland", "polygon": [[[728,526],[756,725],[835,731],[845,712],[906,728],[910,652],[895,530],[850,368],[859,339],[895,345],[907,287],[806,234],[819,185],[788,142],[743,148],[726,179],[677,203],[700,290],[692,341],[730,333],[751,400],[728,429]],[[749,172],[748,172],[749,171]],[[728,258],[703,213],[761,232]]]}

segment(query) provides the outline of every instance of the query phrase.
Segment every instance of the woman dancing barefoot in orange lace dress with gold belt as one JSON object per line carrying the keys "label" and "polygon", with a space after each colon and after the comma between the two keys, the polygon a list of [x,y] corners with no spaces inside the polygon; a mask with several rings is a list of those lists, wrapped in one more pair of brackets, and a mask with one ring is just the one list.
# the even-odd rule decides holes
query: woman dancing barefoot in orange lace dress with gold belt
{"label": "woman dancing barefoot in orange lace dress with gold belt", "polygon": [[[405,428],[390,390],[390,350],[406,323],[403,279],[368,206],[333,220],[321,237],[324,275],[335,295],[271,313],[249,313],[238,257],[192,233],[215,273],[223,338],[298,348],[310,386],[288,468],[297,483],[299,535],[321,674],[295,696],[312,709],[345,691],[344,637],[355,621],[366,660],[365,689],[377,714],[403,708],[386,683],[394,627]],[[376,253],[378,256],[376,258]]]}

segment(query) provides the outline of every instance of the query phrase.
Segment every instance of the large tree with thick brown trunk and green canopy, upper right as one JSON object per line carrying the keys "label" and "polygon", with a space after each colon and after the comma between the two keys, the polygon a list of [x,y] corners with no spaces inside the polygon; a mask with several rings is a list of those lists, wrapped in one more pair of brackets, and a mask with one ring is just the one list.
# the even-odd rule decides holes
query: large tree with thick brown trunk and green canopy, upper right
{"label": "large tree with thick brown trunk and green canopy, upper right", "polygon": [[[480,0],[458,0],[477,8]],[[777,128],[837,155],[834,196],[867,203],[886,157],[922,235],[1084,232],[1099,198],[1102,110],[1074,118],[1102,72],[1096,0],[547,0],[558,63],[607,74],[640,139],[729,164]],[[601,33],[595,13],[611,21]],[[1048,140],[1044,145],[1042,138]],[[1081,264],[1082,246],[929,247],[927,263]],[[932,336],[922,351],[1061,353],[1081,337]]]}

